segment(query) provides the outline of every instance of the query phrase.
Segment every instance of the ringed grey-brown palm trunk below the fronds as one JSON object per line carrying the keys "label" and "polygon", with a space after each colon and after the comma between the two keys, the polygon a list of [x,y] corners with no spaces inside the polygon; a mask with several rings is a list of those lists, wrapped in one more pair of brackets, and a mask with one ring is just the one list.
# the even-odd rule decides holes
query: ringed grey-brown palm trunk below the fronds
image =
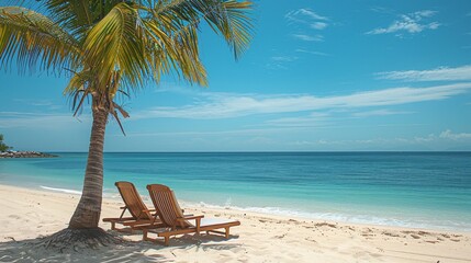
{"label": "ringed grey-brown palm trunk below the fronds", "polygon": [[98,228],[103,192],[103,145],[108,111],[92,107],[90,147],[80,202],[70,218],[70,229]]}

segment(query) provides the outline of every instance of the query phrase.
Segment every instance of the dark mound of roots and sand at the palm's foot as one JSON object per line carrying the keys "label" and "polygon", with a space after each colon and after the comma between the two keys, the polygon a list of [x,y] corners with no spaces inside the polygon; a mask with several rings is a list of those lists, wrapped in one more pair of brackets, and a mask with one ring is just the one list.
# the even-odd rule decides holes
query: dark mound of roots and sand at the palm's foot
{"label": "dark mound of roots and sand at the palm's foot", "polygon": [[68,250],[79,252],[83,249],[99,249],[123,242],[121,238],[108,233],[101,228],[66,228],[42,239],[37,245],[63,253]]}

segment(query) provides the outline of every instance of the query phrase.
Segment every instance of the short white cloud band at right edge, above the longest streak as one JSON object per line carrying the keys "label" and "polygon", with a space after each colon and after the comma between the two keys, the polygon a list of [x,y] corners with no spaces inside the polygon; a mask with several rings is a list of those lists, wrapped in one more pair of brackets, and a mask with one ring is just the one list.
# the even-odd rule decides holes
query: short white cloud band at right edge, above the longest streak
{"label": "short white cloud band at right edge, above the longest streak", "polygon": [[471,80],[471,65],[448,68],[440,67],[431,70],[388,71],[377,73],[379,79],[405,81],[451,81]]}

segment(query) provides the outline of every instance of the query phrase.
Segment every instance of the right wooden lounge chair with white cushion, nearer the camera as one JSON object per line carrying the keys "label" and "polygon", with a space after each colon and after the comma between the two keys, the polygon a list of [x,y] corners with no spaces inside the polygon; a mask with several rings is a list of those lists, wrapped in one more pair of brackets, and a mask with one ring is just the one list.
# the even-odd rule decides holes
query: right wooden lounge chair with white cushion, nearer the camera
{"label": "right wooden lounge chair with white cushion, nearer the camera", "polygon": [[[147,190],[164,228],[144,228],[143,240],[158,241],[157,238],[148,237],[149,232],[157,233],[157,237],[164,238],[165,245],[168,245],[171,236],[192,232],[199,235],[200,231],[221,233],[227,239],[229,237],[229,228],[240,225],[239,221],[229,219],[206,219],[204,216],[184,216],[181,213],[173,192],[169,187],[161,184],[149,184],[147,185]],[[189,220],[194,220],[195,224],[191,224]],[[225,231],[216,229],[224,229]]]}

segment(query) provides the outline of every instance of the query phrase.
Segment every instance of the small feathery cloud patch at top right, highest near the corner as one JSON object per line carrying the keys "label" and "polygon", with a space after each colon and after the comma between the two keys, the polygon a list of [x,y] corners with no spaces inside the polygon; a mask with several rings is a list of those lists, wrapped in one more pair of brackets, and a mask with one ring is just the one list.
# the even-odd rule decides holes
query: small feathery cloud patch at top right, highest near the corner
{"label": "small feathery cloud patch at top right, highest near the corner", "polygon": [[423,32],[424,30],[437,30],[441,24],[434,21],[425,23],[423,20],[431,18],[436,14],[436,11],[423,10],[414,13],[402,14],[400,20],[393,21],[388,27],[379,27],[367,32],[367,34],[389,34],[396,32],[407,32],[415,34]]}

